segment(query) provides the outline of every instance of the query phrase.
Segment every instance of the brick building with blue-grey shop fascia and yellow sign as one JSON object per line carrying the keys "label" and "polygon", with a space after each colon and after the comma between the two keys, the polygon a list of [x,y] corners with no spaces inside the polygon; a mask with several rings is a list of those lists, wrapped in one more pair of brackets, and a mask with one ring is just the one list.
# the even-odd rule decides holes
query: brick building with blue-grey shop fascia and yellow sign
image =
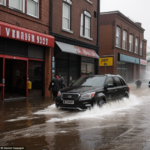
{"label": "brick building with blue-grey shop fascia and yellow sign", "polygon": [[119,74],[127,82],[142,77],[146,45],[141,23],[119,11],[100,14],[99,74]]}

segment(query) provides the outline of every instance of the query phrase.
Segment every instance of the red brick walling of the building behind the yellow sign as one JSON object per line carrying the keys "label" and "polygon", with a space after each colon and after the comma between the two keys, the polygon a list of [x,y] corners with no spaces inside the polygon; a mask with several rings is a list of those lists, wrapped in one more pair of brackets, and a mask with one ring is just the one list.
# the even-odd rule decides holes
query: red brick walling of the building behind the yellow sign
{"label": "red brick walling of the building behind the yellow sign", "polygon": [[[123,30],[127,30],[127,51],[122,48],[116,47],[116,27],[119,26],[121,28],[121,47],[122,47],[122,36]],[[133,52],[129,52],[129,34],[133,34]],[[135,54],[135,37],[138,37],[138,50],[140,52],[140,41],[143,40],[143,55]],[[125,19],[119,14],[105,14],[100,16],[100,56],[105,55],[114,55],[114,66],[113,71],[109,69],[109,72],[117,74],[117,60],[118,53],[136,57],[139,59],[146,59],[146,43],[147,41],[144,38],[144,31],[139,29],[136,25],[133,25],[130,21]],[[99,72],[104,73],[104,67],[99,67]],[[134,68],[135,69],[135,68]]]}

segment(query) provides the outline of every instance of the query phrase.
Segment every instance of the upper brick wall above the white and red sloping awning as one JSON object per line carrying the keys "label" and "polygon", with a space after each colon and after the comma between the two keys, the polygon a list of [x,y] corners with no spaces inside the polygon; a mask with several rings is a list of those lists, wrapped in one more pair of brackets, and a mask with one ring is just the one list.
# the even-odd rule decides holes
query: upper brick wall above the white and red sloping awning
{"label": "upper brick wall above the white and red sloping awning", "polygon": [[[71,31],[73,34],[62,30],[62,7],[63,0],[53,0],[53,22],[52,31],[54,33],[96,45],[97,42],[97,18],[94,18],[94,11],[97,12],[97,0],[92,0],[90,4],[86,0],[72,0],[71,10]],[[80,37],[81,13],[85,10],[91,13],[91,38],[93,41]]]}

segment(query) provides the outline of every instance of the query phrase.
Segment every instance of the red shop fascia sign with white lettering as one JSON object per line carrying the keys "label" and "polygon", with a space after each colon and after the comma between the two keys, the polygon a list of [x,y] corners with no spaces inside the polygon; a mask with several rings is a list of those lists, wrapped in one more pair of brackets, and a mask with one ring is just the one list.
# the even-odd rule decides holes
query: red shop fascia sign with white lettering
{"label": "red shop fascia sign with white lettering", "polygon": [[53,36],[0,22],[0,37],[10,38],[32,44],[54,47]]}

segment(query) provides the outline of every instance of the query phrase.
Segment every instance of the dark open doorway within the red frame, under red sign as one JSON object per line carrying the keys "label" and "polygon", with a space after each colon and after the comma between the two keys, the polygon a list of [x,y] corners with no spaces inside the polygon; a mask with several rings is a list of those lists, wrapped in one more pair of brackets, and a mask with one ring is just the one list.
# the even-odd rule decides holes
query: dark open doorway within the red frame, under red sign
{"label": "dark open doorway within the red frame, under red sign", "polygon": [[5,99],[26,97],[27,62],[5,59]]}

